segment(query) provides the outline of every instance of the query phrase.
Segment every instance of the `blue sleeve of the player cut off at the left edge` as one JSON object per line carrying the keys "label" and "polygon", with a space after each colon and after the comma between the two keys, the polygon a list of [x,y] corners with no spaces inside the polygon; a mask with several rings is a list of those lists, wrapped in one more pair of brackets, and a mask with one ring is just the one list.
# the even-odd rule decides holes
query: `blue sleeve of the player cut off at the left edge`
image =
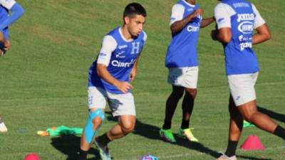
{"label": "blue sleeve of the player cut off at the left edge", "polygon": [[18,3],[14,4],[11,7],[10,11],[11,11],[11,15],[9,16],[9,18],[7,18],[5,21],[3,21],[0,24],[0,31],[8,27],[11,23],[14,23],[18,18],[20,18],[24,14],[24,9]]}

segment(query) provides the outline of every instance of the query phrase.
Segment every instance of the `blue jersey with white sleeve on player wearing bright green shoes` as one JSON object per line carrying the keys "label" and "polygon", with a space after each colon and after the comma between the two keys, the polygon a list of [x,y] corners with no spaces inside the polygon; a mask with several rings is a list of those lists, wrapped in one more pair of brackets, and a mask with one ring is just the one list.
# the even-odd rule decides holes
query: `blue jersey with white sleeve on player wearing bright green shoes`
{"label": "blue jersey with white sleeve on player wearing bright green shoes", "polygon": [[[199,6],[180,0],[172,7],[170,26],[176,21],[192,14]],[[172,40],[167,48],[165,66],[167,68],[182,68],[198,65],[197,41],[199,37],[202,16],[193,18],[187,25],[177,33],[172,33]]]}

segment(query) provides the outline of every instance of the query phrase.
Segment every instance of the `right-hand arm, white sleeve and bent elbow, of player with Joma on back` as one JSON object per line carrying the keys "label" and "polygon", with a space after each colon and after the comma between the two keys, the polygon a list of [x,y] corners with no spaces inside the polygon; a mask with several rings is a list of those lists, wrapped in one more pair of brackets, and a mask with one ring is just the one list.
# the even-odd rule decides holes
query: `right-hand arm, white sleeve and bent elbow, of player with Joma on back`
{"label": "right-hand arm, white sleeve and bent elbow, of player with Joma on back", "polygon": [[254,18],[254,28],[257,31],[257,33],[255,33],[254,36],[252,37],[252,44],[255,45],[269,40],[271,38],[271,35],[269,28],[267,27],[264,19],[261,17],[259,11],[257,11],[257,8],[254,6],[254,4],[252,4],[252,10],[256,15]]}

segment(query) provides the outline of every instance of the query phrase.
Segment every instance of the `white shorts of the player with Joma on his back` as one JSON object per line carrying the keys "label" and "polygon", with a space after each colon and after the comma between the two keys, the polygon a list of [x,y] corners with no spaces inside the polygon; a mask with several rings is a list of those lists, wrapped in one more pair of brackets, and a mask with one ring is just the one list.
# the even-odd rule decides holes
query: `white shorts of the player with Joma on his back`
{"label": "white shorts of the player with Joma on his back", "polygon": [[229,90],[236,106],[244,105],[247,102],[256,100],[254,85],[257,82],[257,73],[228,75]]}

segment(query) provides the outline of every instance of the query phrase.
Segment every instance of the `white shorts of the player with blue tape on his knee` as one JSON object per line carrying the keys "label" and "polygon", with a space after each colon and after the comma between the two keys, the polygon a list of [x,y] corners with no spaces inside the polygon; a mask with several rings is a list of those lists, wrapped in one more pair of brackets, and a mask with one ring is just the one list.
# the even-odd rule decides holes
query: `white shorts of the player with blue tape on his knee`
{"label": "white shorts of the player with blue tape on his knee", "polygon": [[89,109],[102,108],[105,110],[107,102],[114,117],[120,115],[135,116],[135,100],[132,93],[113,94],[101,87],[88,87]]}

